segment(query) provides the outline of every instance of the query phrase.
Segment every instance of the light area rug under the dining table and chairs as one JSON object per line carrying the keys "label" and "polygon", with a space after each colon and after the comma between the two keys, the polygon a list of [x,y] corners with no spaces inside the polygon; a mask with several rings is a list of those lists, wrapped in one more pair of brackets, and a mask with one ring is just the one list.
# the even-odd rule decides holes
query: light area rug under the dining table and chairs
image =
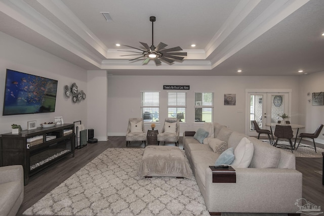
{"label": "light area rug under the dining table and chairs", "polygon": [[[262,140],[262,141],[268,141],[268,140]],[[296,144],[296,146],[297,146],[297,144]],[[286,141],[278,141],[277,146],[279,146],[279,145],[288,147],[289,149],[284,149],[284,148],[283,149],[285,151],[290,152],[290,153],[292,152],[292,150],[289,147],[289,142],[288,141],[287,142]],[[295,156],[296,157],[314,157],[314,158],[323,157],[322,152],[324,152],[324,149],[316,147],[316,153],[315,153],[315,150],[314,150],[313,146],[310,146],[311,148],[306,147],[306,146],[309,146],[309,145],[305,145],[305,144],[301,143],[299,145],[298,149],[293,151]]]}

